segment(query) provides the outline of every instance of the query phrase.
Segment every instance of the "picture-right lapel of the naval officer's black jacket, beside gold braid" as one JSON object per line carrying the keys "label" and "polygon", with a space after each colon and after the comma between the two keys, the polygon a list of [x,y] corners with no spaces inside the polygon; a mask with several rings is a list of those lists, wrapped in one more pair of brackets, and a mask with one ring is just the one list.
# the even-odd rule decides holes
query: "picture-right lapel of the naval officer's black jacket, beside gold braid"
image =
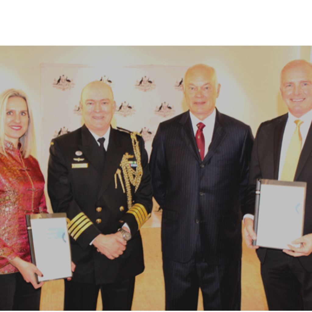
{"label": "picture-right lapel of the naval officer's black jacket, beside gold braid", "polygon": [[116,137],[116,132],[117,130],[113,128],[110,129],[110,141],[105,155],[104,169],[101,179],[102,182],[100,186],[100,191],[98,193],[98,200],[105,192],[111,180],[114,179],[114,175],[117,168],[119,167],[119,164],[121,163],[121,159],[126,149],[125,146],[120,146]]}

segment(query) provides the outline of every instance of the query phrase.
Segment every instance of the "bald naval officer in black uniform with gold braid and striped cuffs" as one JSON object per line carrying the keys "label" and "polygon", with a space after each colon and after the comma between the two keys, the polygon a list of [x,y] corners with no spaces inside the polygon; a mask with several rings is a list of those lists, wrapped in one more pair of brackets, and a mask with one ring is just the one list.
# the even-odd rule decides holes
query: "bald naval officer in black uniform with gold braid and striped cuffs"
{"label": "bald naval officer in black uniform with gold braid and striped cuffs", "polygon": [[65,310],[131,310],[135,275],[144,270],[139,228],[152,210],[148,156],[139,134],[110,127],[110,86],[93,81],[81,93],[85,124],[51,142],[48,193],[66,212],[73,276]]}

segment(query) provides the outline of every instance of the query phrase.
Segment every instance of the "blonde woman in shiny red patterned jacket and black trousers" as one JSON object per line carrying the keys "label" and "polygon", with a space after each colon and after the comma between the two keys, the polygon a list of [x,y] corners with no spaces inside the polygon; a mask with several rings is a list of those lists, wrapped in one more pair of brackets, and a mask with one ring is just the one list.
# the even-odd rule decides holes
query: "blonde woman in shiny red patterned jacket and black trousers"
{"label": "blonde woman in shiny red patterned jacket and black trousers", "polygon": [[0,310],[39,310],[41,286],[31,263],[26,215],[46,212],[44,178],[30,155],[34,141],[26,94],[0,95]]}

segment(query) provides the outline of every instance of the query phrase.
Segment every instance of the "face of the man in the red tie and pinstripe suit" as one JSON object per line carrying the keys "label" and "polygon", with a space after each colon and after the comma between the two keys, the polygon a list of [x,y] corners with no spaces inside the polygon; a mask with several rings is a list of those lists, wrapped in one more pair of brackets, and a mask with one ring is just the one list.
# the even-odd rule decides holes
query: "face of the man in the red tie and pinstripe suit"
{"label": "face of the man in the red tie and pinstripe suit", "polygon": [[220,92],[215,70],[198,64],[189,68],[185,74],[183,90],[190,111],[198,119],[204,120],[212,114]]}

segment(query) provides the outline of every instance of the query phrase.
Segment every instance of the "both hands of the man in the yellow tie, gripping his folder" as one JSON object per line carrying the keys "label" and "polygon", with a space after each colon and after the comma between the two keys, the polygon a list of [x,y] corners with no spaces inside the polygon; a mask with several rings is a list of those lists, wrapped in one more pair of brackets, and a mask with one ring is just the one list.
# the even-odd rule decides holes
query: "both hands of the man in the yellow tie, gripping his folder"
{"label": "both hands of the man in the yellow tie, gripping his folder", "polygon": [[[254,222],[251,218],[244,219],[244,237],[248,248],[257,249],[259,248],[259,246],[252,245],[252,241],[257,239],[256,233],[253,230],[253,224]],[[312,233],[301,236],[292,241],[291,243],[300,244],[300,247],[287,245],[290,250],[283,249],[283,252],[285,252],[287,255],[293,257],[309,256],[310,253],[312,252]]]}

